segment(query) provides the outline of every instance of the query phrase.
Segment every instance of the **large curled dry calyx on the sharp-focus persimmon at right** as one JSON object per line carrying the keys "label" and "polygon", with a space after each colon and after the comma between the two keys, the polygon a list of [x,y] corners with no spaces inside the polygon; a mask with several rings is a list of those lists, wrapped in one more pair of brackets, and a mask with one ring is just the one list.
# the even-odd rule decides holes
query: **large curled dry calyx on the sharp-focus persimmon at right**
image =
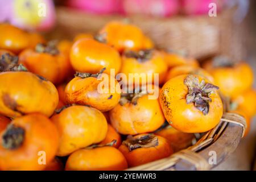
{"label": "large curled dry calyx on the sharp-focus persimmon at right", "polygon": [[202,111],[204,115],[207,115],[209,112],[209,102],[212,101],[210,94],[217,90],[218,86],[205,83],[204,80],[199,82],[198,77],[194,75],[188,75],[184,80],[184,84],[188,86],[187,104],[193,102],[197,109]]}

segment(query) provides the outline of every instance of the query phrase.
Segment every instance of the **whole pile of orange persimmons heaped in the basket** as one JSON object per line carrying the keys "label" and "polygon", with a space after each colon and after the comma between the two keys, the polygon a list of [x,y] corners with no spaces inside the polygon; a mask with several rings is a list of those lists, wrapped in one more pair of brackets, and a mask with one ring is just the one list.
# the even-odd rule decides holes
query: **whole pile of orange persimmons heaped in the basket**
{"label": "whole pile of orange persimmons heaped in the basket", "polygon": [[[256,113],[248,64],[218,56],[200,67],[129,23],[49,42],[0,24],[0,56],[1,170],[123,170],[191,146],[220,122],[221,97],[246,118],[246,134]],[[158,97],[142,82],[121,86],[117,73],[158,74],[159,84],[144,83]],[[102,93],[104,74],[114,84]],[[129,84],[134,92],[123,93]]]}

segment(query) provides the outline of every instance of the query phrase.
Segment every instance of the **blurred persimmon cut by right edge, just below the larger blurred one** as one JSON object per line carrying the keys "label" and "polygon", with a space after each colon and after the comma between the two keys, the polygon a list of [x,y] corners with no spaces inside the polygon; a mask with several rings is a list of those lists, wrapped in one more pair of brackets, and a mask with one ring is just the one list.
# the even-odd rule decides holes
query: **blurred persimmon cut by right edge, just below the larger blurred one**
{"label": "blurred persimmon cut by right edge, just below the larger blurred one", "polygon": [[232,98],[232,102],[237,104],[238,109],[245,110],[250,117],[256,114],[256,91],[254,89],[249,89]]}

